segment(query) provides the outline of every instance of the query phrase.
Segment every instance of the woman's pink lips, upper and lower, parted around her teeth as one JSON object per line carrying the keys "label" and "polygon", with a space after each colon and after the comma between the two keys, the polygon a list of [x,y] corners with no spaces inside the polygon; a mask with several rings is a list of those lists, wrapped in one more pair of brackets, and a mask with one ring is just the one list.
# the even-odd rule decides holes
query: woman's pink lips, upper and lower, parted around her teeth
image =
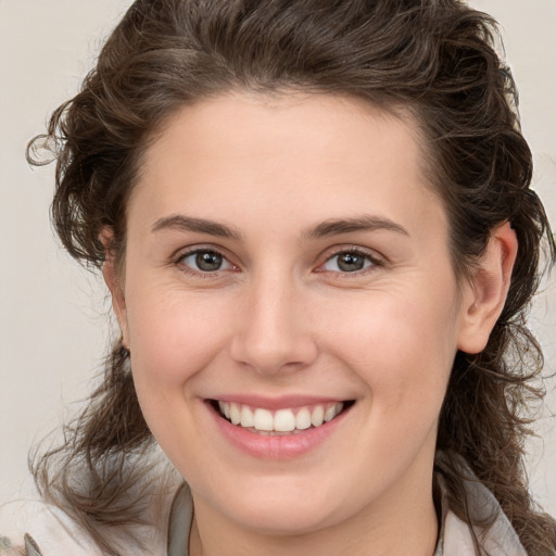
{"label": "woman's pink lips, upper and lower, parted around her teeth", "polygon": [[[330,403],[338,400],[313,397],[313,396],[285,396],[280,399],[267,399],[258,396],[226,396],[222,401],[262,407],[269,410],[277,410],[283,407],[295,408],[307,405]],[[346,410],[338,415],[331,421],[320,427],[296,431],[291,434],[270,435],[262,432],[254,432],[251,429],[232,425],[220,416],[211,403],[206,407],[212,414],[216,426],[222,434],[238,450],[253,457],[261,459],[292,459],[300,457],[323,444],[330,437],[338,426],[343,421]],[[349,409],[348,409],[349,410]]]}

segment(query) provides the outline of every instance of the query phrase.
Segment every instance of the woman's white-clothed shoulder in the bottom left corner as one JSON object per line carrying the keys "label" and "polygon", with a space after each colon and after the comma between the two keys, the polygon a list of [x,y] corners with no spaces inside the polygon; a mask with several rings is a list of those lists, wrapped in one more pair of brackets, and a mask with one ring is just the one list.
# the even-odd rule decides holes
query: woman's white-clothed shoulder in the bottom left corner
{"label": "woman's white-clothed shoulder in the bottom left corner", "polygon": [[0,505],[0,556],[101,556],[59,508],[37,500]]}

